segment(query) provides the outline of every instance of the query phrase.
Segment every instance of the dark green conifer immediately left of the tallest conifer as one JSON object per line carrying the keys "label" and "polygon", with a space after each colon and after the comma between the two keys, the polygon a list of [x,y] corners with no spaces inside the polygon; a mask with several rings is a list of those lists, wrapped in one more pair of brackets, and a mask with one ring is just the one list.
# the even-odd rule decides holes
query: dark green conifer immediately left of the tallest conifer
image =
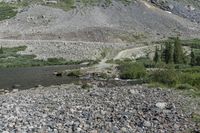
{"label": "dark green conifer immediately left of the tallest conifer", "polygon": [[173,45],[168,43],[166,44],[166,50],[165,50],[165,62],[167,64],[171,64],[174,62],[174,59],[173,59],[173,55],[174,55],[174,52],[173,52]]}

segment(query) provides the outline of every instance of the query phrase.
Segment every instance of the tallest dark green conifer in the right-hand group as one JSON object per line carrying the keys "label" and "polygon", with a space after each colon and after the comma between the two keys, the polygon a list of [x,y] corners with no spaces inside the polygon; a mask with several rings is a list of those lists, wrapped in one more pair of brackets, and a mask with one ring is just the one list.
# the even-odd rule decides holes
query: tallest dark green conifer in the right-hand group
{"label": "tallest dark green conifer in the right-hand group", "polygon": [[183,49],[179,37],[177,37],[174,41],[174,63],[183,63]]}

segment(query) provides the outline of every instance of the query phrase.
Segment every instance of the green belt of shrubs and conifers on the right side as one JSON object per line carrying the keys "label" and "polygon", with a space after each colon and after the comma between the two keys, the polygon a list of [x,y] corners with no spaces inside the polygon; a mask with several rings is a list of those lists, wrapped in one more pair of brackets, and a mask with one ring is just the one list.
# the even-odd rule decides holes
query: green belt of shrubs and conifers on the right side
{"label": "green belt of shrubs and conifers on the right side", "polygon": [[[155,49],[154,59],[149,57],[137,60],[110,60],[119,65],[122,79],[145,79],[150,86],[176,88],[191,96],[200,97],[200,52],[186,55],[182,45],[192,47],[199,45],[199,39],[169,39],[163,47]],[[196,51],[200,48],[196,47]]]}

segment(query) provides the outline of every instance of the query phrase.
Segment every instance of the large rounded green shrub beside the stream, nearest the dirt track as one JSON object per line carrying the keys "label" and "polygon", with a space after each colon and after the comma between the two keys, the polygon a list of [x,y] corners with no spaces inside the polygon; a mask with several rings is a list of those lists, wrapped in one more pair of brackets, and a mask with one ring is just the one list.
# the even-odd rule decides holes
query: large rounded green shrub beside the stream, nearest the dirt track
{"label": "large rounded green shrub beside the stream, nearest the dirt track", "polygon": [[146,76],[144,65],[138,63],[123,63],[119,66],[120,78],[122,79],[139,79]]}

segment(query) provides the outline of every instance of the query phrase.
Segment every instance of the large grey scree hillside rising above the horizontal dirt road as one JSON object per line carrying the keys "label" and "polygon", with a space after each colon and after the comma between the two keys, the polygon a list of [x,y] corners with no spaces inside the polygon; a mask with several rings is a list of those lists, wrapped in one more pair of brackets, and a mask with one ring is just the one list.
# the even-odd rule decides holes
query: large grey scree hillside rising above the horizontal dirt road
{"label": "large grey scree hillside rising above the horizontal dirt road", "polygon": [[121,42],[200,33],[199,10],[183,2],[82,0],[65,3],[67,10],[62,2],[24,4],[0,22],[0,38]]}

